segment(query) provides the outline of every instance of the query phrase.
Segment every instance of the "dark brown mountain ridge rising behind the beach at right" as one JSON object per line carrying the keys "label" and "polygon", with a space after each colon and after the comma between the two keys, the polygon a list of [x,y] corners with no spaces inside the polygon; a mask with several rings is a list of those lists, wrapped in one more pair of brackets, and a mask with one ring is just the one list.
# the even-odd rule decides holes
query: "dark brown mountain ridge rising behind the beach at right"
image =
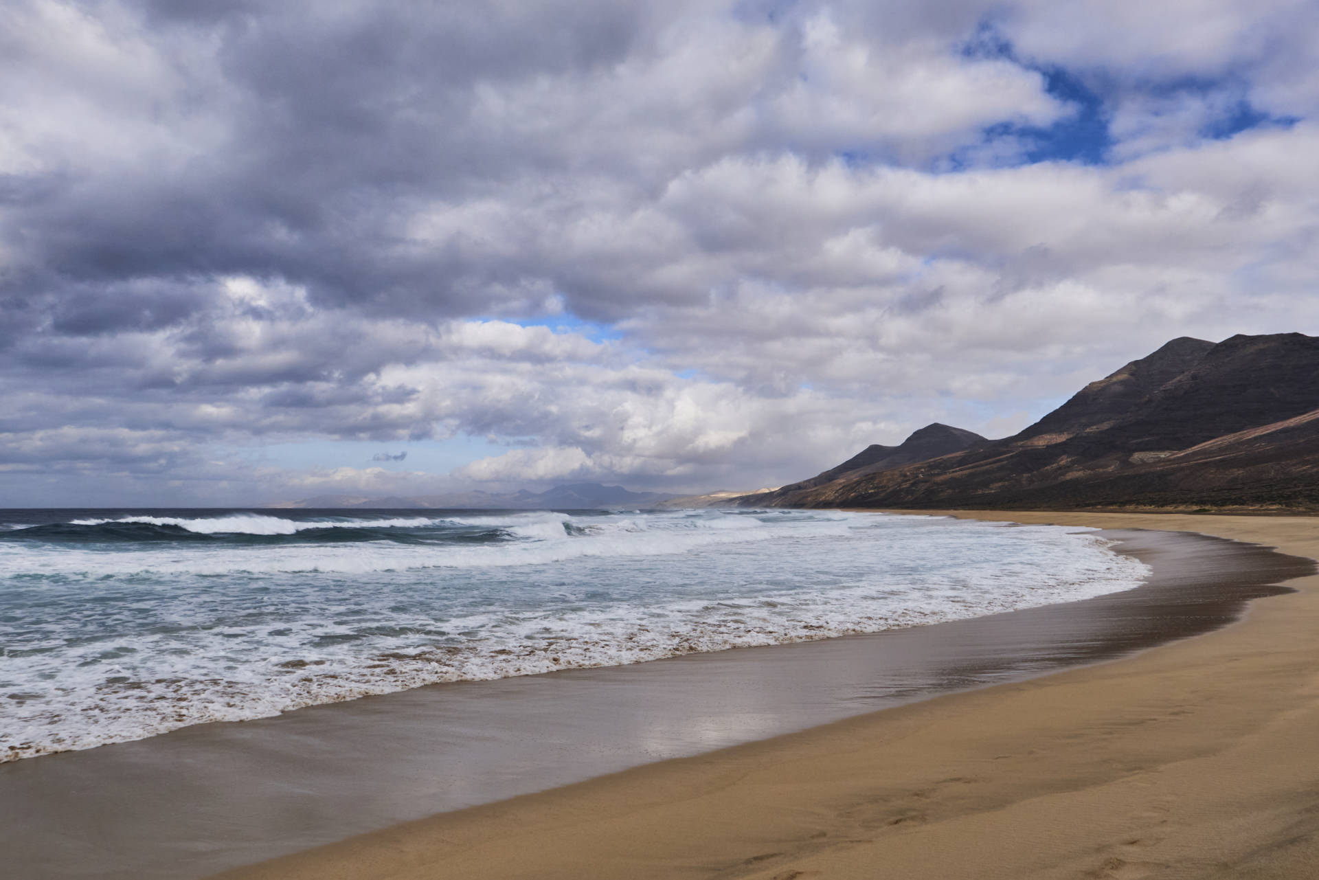
{"label": "dark brown mountain ridge rising behind the beach at right", "polygon": [[745,507],[1319,509],[1319,338],[1181,338],[1020,434],[930,425]]}

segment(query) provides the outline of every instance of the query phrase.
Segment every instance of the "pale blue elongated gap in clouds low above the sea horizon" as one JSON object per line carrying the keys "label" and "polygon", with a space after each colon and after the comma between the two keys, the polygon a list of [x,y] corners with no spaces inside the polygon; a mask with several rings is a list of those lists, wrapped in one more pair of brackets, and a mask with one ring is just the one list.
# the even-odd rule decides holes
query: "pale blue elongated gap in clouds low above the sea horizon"
{"label": "pale blue elongated gap in clouds low above the sea horizon", "polygon": [[[390,442],[309,439],[245,446],[226,451],[244,458],[255,466],[294,471],[380,467],[386,471],[447,474],[455,467],[470,464],[477,459],[501,455],[508,451],[508,447],[485,437],[456,434],[447,439]],[[397,458],[400,454],[405,454],[404,458]]]}

